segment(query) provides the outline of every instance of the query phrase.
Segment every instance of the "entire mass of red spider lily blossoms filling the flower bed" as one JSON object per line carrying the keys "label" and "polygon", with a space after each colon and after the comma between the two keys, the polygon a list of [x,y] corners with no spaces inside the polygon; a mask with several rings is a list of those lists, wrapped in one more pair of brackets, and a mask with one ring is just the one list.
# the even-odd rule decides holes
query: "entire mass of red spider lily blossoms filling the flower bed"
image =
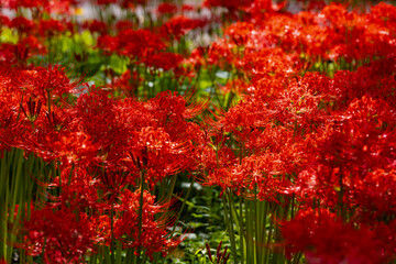
{"label": "entire mass of red spider lily blossoms filling the flower bed", "polygon": [[[182,239],[169,235],[172,201],[151,191],[186,170],[221,195],[293,204],[296,213],[276,221],[286,257],[395,261],[396,8],[305,2],[306,11],[290,13],[286,2],[206,0],[205,8],[226,8],[224,34],[185,54],[174,42],[216,15],[185,16],[196,10],[167,2],[153,29],[124,20],[75,24],[44,15],[69,12],[75,1],[4,1],[35,16],[0,15],[19,36],[0,46],[0,152],[34,153],[59,172],[41,183],[59,194],[32,210],[18,246],[46,263],[84,262],[114,240],[151,258],[166,255]],[[133,10],[147,2],[96,3]],[[80,29],[97,37],[92,50],[105,59],[128,62],[123,73],[105,73],[108,87],[30,64],[51,52],[48,40]],[[322,66],[337,68],[327,75]],[[147,75],[170,73],[183,82],[218,69],[231,75],[215,94],[229,98],[224,109],[169,90],[138,96]]]}

